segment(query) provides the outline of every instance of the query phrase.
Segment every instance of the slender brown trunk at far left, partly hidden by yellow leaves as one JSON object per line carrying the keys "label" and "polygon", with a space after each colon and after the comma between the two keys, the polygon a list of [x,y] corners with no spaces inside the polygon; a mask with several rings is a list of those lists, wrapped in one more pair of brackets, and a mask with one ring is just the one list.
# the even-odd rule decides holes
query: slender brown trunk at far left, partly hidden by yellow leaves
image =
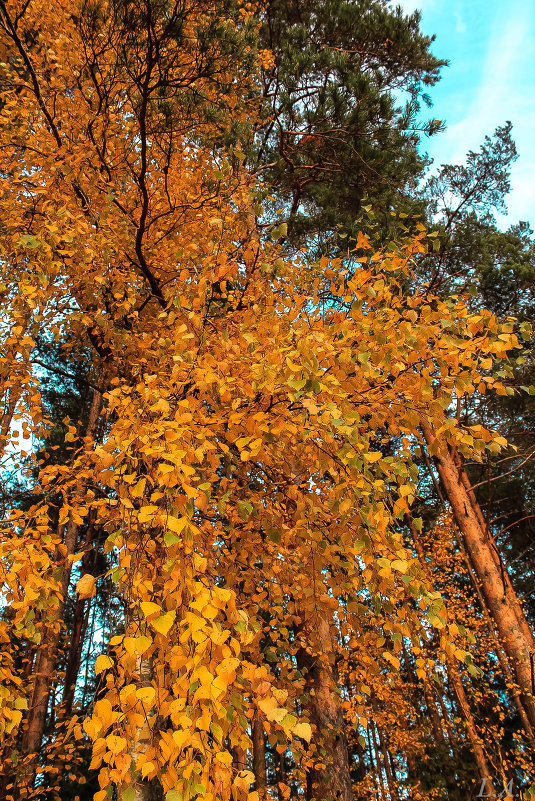
{"label": "slender brown trunk at far left, partly hidden by yellow leaves", "polygon": [[[94,390],[85,437],[94,438],[95,436],[101,402],[102,395],[100,392]],[[28,717],[26,720],[26,730],[23,737],[22,747],[24,753],[27,755],[33,755],[33,761],[31,762],[31,768],[29,770],[30,784],[34,781],[35,769],[37,767],[37,757],[43,740],[50,686],[55,671],[56,654],[63,620],[63,612],[65,609],[65,602],[71,578],[70,557],[75,553],[77,537],[78,524],[74,522],[74,519],[71,515],[65,528],[63,574],[60,588],[61,598],[56,607],[55,619],[43,632],[42,641],[39,646],[39,652],[35,664],[35,682],[28,710]]]}

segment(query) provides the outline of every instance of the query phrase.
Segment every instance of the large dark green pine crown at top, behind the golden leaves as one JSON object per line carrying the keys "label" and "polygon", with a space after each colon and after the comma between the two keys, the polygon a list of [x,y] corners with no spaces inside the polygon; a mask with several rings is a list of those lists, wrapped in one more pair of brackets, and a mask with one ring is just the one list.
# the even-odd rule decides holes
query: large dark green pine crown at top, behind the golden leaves
{"label": "large dark green pine crown at top, behind the golden leaves", "polygon": [[414,208],[409,195],[425,166],[419,133],[440,128],[417,117],[446,64],[430,53],[419,14],[383,0],[333,0],[320,13],[308,0],[268,0],[261,20],[273,58],[249,160],[276,207],[284,204],[294,246],[344,248],[338,234],[356,235],[366,202],[390,229],[392,208]]}

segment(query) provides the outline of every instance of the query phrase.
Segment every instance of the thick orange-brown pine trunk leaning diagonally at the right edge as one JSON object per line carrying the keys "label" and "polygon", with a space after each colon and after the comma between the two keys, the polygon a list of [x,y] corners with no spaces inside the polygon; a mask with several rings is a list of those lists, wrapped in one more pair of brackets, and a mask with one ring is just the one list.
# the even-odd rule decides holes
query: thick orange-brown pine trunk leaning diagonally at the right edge
{"label": "thick orange-brown pine trunk leaning diagonally at the right edge", "polygon": [[522,693],[522,705],[531,727],[535,727],[532,661],[535,656],[535,638],[511,585],[507,570],[499,561],[488,531],[482,527],[481,510],[473,501],[473,492],[467,490],[468,478],[465,477],[463,470],[459,471],[454,456],[437,440],[432,428],[424,423],[422,431],[463,535],[466,551],[486,606],[513,667]]}

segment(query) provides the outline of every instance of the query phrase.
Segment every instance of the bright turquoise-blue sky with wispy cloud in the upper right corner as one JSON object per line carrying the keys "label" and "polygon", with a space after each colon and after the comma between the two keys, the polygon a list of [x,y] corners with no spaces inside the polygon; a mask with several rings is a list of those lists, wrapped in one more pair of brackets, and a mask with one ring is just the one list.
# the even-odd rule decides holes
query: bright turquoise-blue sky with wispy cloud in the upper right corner
{"label": "bright turquoise-blue sky with wispy cloud in the upper right corner", "polygon": [[[511,120],[519,158],[511,174],[508,217],[535,227],[535,0],[394,0],[422,11],[433,53],[450,61],[431,90],[432,116],[447,130],[423,146],[437,163],[460,163],[485,134]],[[431,115],[429,115],[431,116]]]}

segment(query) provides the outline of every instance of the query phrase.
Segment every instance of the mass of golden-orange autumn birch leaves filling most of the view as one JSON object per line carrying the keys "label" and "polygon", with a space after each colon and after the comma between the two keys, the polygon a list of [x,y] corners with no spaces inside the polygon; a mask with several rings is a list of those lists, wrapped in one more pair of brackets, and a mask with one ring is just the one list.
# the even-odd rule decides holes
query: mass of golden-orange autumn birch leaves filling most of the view
{"label": "mass of golden-orange autumn birch leaves filling most of the view", "polygon": [[[506,446],[452,409],[505,391],[518,330],[415,281],[423,226],[285,248],[244,153],[255,14],[0,3],[2,449],[33,495],[0,544],[6,799],[88,777],[95,801],[450,797],[419,779],[429,719],[476,792],[532,775],[521,607],[508,638],[454,581],[481,543],[414,514],[424,454],[461,471]],[[60,459],[43,377],[80,365]],[[500,773],[508,698],[525,730]]]}

